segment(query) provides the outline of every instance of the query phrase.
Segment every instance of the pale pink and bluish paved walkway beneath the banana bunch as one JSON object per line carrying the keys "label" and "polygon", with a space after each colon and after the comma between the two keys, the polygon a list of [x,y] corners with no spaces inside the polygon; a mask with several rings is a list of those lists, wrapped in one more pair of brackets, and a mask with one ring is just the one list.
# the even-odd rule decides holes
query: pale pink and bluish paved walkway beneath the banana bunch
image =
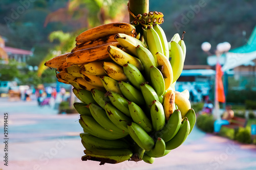
{"label": "pale pink and bluish paved walkway beneath the banana bunch", "polygon": [[[256,169],[256,145],[206,134],[197,128],[179,148],[157,158],[154,164],[126,161],[99,165],[81,161],[84,148],[78,136],[82,131],[78,114],[58,115],[51,107],[40,108],[36,102],[8,102],[1,98],[0,111],[8,112],[10,128],[9,162],[7,167],[1,161],[3,170]],[[2,121],[0,124],[3,127]],[[0,148],[3,155],[4,144]]]}

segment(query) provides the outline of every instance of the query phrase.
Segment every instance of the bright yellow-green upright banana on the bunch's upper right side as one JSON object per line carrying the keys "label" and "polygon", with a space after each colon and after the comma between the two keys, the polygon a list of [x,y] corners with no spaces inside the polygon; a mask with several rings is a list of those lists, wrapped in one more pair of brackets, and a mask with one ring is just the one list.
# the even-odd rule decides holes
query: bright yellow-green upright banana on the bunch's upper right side
{"label": "bright yellow-green upright banana on the bunch's upper right side", "polygon": [[173,68],[173,82],[175,82],[180,77],[184,66],[184,54],[181,46],[175,41],[170,42],[170,49],[170,57],[172,57],[170,60],[170,65],[172,65]]}

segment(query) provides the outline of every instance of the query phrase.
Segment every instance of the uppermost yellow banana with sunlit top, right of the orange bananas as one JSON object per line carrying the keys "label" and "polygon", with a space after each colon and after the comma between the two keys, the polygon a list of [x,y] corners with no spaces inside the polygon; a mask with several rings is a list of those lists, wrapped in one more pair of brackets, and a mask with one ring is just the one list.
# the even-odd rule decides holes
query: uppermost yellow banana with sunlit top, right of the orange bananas
{"label": "uppermost yellow banana with sunlit top, right of the orange bananas", "polygon": [[125,50],[129,51],[130,53],[132,53],[135,56],[138,56],[137,52],[136,52],[136,46],[141,45],[146,47],[145,44],[143,44],[140,40],[126,35],[126,34],[120,34],[118,33],[115,37],[115,39],[119,42],[119,44],[125,48]]}

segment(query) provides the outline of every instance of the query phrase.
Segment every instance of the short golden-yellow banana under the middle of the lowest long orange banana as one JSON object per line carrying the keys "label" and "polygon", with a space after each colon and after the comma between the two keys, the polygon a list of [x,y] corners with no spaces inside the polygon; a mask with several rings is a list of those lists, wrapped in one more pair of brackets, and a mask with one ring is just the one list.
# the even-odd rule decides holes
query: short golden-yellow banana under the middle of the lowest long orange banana
{"label": "short golden-yellow banana under the middle of the lowest long orange banana", "polygon": [[81,65],[81,69],[88,75],[106,75],[102,67],[102,61],[94,61]]}

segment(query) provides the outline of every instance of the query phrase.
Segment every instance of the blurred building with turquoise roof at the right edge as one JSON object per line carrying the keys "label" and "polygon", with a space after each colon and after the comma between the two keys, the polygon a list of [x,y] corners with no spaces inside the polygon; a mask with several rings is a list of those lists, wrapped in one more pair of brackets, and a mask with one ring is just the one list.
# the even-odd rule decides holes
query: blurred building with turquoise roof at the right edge
{"label": "blurred building with turquoise roof at the right edge", "polygon": [[[215,66],[216,62],[215,55],[207,58],[207,63],[210,66]],[[256,90],[256,27],[245,45],[221,55],[219,62],[224,75],[232,76],[238,81],[239,85],[233,89],[242,90],[246,86],[250,86],[252,90]]]}

